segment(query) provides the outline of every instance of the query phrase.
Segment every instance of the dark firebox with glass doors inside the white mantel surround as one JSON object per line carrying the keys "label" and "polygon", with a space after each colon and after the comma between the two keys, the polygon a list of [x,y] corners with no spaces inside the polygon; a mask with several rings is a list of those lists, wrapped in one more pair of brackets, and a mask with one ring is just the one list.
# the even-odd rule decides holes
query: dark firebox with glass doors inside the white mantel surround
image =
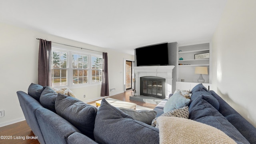
{"label": "dark firebox with glass doors inside the white mantel surround", "polygon": [[140,77],[140,95],[165,98],[165,78],[157,76]]}

